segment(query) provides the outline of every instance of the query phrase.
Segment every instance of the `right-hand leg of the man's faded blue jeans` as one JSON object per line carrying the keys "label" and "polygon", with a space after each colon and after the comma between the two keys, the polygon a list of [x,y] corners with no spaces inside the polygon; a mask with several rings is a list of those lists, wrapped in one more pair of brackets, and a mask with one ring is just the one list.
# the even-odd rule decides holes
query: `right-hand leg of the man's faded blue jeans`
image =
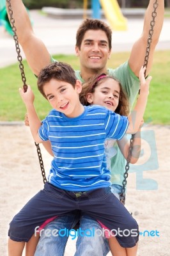
{"label": "right-hand leg of the man's faded blue jeans", "polygon": [[105,237],[97,236],[97,231],[102,230],[99,223],[86,214],[82,214],[80,221],[80,228],[82,231],[88,230],[95,233],[95,236],[78,236],[76,243],[75,256],[106,256],[109,253],[109,244]]}

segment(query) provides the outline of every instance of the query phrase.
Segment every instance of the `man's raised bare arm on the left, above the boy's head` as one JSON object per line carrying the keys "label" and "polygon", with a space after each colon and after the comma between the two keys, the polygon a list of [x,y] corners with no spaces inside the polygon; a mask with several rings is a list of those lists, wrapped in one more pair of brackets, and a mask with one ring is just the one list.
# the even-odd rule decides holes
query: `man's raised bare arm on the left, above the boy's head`
{"label": "man's raised bare arm on the left, above the boy's head", "polygon": [[[22,46],[31,70],[38,76],[40,70],[50,63],[50,54],[42,40],[35,36],[29,15],[22,1],[11,0],[11,4],[19,44]],[[6,6],[6,10],[8,10],[8,6]]]}

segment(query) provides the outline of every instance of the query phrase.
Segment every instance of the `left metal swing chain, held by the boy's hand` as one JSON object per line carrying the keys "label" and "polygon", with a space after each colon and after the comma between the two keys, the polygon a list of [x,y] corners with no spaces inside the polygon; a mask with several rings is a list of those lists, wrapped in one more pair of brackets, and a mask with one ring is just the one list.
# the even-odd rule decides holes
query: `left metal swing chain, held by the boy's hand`
{"label": "left metal swing chain, held by the boy's hand", "polygon": [[[26,76],[24,73],[24,65],[22,64],[22,56],[20,55],[19,39],[17,36],[17,28],[15,27],[15,19],[13,18],[12,5],[11,5],[10,0],[6,0],[6,2],[8,3],[8,13],[10,15],[10,24],[11,24],[12,30],[13,30],[13,39],[15,41],[15,48],[17,51],[17,59],[19,61],[19,68],[20,68],[20,74],[21,74],[22,82],[23,82],[23,89],[24,89],[24,92],[26,92],[27,91]],[[45,177],[45,170],[43,168],[42,153],[41,153],[39,144],[35,142],[35,145],[36,145],[36,150],[37,150],[38,159],[39,159],[39,163],[40,163],[40,168],[42,171],[43,183],[45,183],[45,182],[47,182],[47,179]]]}

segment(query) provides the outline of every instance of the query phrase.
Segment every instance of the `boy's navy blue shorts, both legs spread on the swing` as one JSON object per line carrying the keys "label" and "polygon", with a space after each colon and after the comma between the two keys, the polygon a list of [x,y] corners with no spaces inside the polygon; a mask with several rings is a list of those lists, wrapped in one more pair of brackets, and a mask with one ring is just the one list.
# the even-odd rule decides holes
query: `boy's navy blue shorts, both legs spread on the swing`
{"label": "boy's navy blue shorts, both legs spread on the swing", "polygon": [[48,182],[14,216],[8,235],[13,241],[27,242],[46,220],[73,210],[81,210],[102,223],[102,227],[112,232],[122,247],[133,247],[138,241],[137,222],[112,194],[111,188],[73,192]]}

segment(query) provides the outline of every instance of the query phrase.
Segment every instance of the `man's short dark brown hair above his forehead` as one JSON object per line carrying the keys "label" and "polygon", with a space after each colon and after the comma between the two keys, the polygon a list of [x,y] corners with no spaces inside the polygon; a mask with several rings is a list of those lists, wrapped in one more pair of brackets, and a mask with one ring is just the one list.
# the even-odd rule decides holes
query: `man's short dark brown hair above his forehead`
{"label": "man's short dark brown hair above his forehead", "polygon": [[82,22],[81,26],[79,26],[79,29],[77,30],[77,35],[76,35],[76,46],[79,47],[79,50],[81,49],[81,43],[82,43],[84,34],[86,33],[86,31],[90,29],[104,31],[109,42],[109,50],[111,50],[112,31],[105,22],[97,19],[86,19]]}

